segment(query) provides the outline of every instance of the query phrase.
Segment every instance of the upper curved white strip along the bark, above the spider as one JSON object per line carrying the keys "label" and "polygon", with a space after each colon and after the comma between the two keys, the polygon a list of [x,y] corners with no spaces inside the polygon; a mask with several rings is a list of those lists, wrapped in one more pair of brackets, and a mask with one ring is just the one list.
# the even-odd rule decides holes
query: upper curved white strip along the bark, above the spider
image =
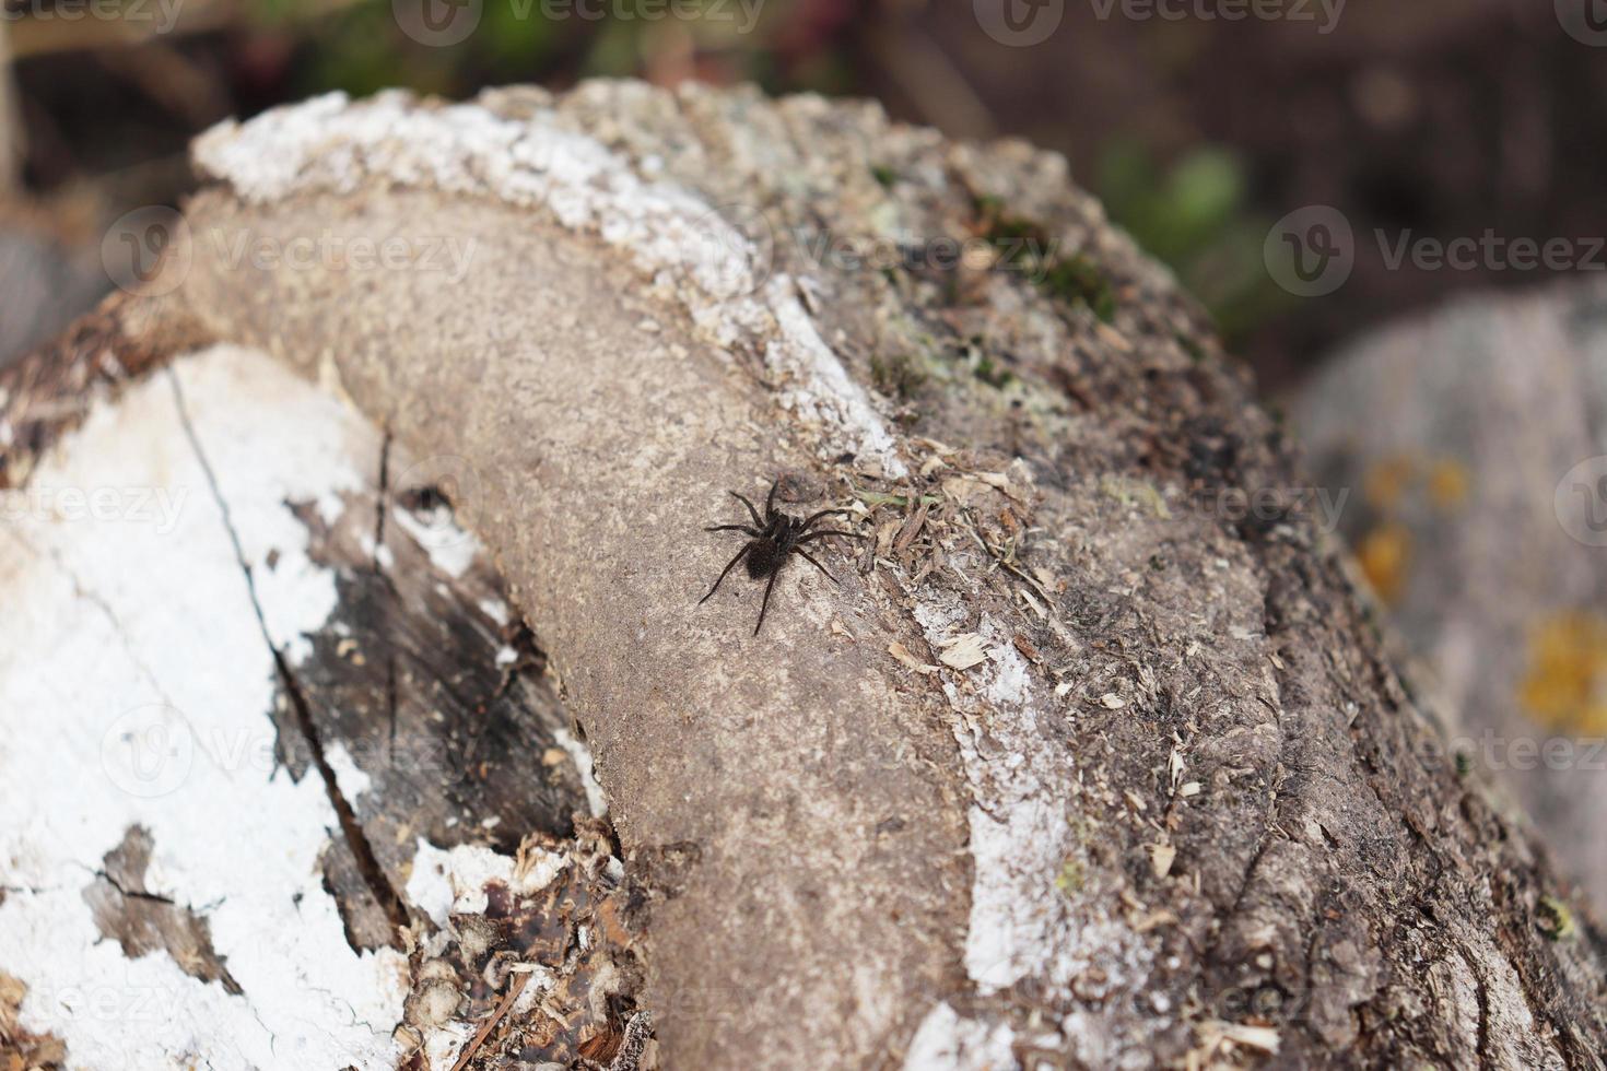
{"label": "upper curved white strip along the bark, above the spider", "polygon": [[892,478],[908,475],[885,421],[820,337],[794,281],[767,284],[768,259],[726,214],[678,185],[643,180],[624,156],[561,128],[550,111],[506,119],[479,104],[421,106],[402,93],[350,103],[331,93],[214,127],[194,143],[194,161],[254,204],[378,180],[545,207],[625,252],[710,342],[755,344],[783,379],[783,405],[820,427],[823,456],[852,450]]}

